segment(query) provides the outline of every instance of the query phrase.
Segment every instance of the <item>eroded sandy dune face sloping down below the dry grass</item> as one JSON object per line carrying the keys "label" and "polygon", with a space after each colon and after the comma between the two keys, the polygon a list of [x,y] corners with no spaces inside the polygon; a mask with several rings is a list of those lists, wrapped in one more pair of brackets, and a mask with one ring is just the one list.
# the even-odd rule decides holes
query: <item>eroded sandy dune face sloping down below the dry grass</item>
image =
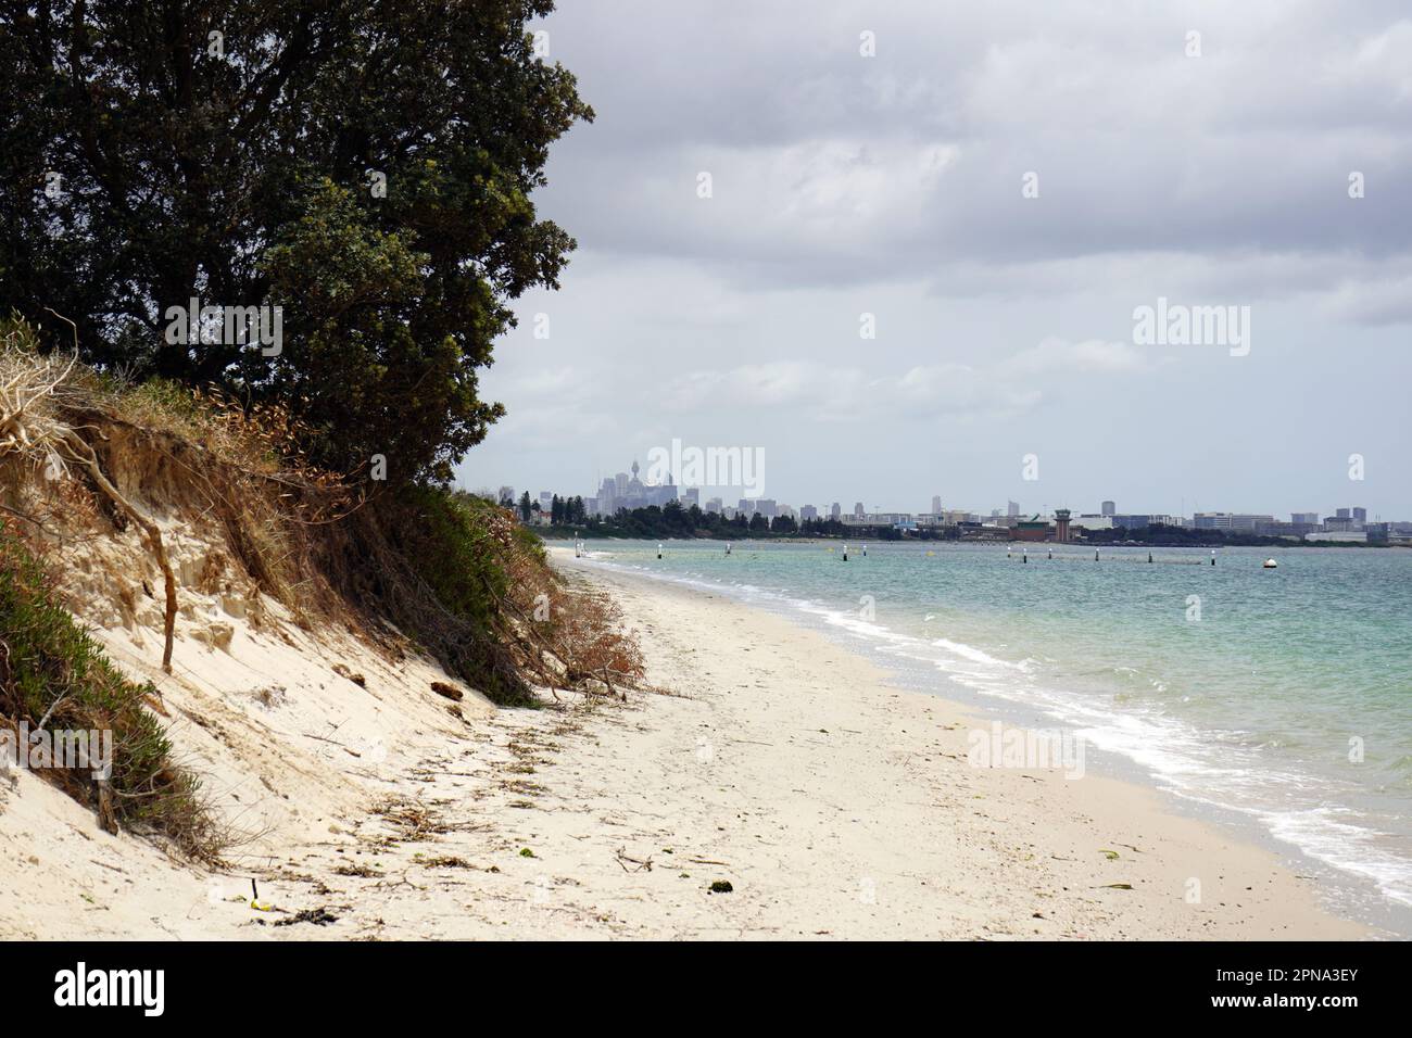
{"label": "eroded sandy dune face sloping down below the dry grass", "polygon": [[[198,869],[140,836],[110,836],[92,811],[10,771],[0,780],[0,846],[17,861],[0,904],[6,936],[209,935],[193,904],[226,905],[213,891],[239,901],[243,890],[249,901],[251,876],[273,874],[335,818],[397,797],[394,775],[494,709],[395,633],[374,640],[353,624],[297,619],[260,592],[229,530],[172,466],[134,460],[130,443],[107,442],[104,453],[113,482],[160,527],[176,578],[171,674],[161,668],[162,575],[137,525],[114,521],[73,482],[24,467],[4,473],[0,490],[7,507],[40,520],[27,532],[44,545],[59,597],[113,662],[157,688],[148,706],[176,761],[201,775],[230,839],[229,867]],[[250,919],[223,919],[215,932],[226,922]]]}

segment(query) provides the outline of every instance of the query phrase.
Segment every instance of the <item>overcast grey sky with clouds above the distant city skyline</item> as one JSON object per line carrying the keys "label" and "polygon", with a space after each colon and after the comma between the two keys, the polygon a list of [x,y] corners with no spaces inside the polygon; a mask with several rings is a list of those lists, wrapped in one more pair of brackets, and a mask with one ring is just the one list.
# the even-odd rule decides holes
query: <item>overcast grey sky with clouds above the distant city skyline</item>
{"label": "overcast grey sky with clouds above the distant city skyline", "polygon": [[[565,0],[537,27],[597,112],[537,193],[579,250],[515,306],[466,486],[589,496],[678,438],[761,449],[796,507],[1412,518],[1405,1]],[[1248,306],[1248,353],[1135,342],[1159,297]]]}

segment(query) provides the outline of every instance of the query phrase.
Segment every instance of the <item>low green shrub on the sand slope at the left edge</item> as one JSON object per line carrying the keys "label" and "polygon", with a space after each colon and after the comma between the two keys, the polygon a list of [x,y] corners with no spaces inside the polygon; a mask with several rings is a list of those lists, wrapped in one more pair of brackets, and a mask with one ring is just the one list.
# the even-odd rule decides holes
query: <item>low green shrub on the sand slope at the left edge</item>
{"label": "low green shrub on the sand slope at the left edge", "polygon": [[[113,821],[161,833],[193,857],[215,853],[199,781],[171,761],[171,743],[144,700],[151,684],[127,681],[55,600],[23,541],[0,528],[0,716],[34,730],[112,732]],[[89,771],[47,768],[85,804],[96,804]]]}

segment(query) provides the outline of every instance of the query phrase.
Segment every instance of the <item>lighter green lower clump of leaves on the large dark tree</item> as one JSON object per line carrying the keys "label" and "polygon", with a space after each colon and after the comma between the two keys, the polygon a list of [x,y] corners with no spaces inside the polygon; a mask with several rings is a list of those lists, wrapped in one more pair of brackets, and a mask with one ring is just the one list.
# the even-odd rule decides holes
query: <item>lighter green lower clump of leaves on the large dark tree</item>
{"label": "lighter green lower clump of leaves on the large dark tree", "polygon": [[[380,453],[394,482],[446,477],[504,414],[477,398],[479,362],[463,352],[446,315],[421,328],[404,318],[431,285],[429,257],[411,250],[414,239],[378,230],[353,192],[325,179],[265,254],[270,299],[284,306],[285,346],[282,363],[256,384],[277,400],[301,401],[297,412],[312,432],[309,458],[318,465],[352,469]],[[462,321],[498,333],[493,299],[477,298]]]}

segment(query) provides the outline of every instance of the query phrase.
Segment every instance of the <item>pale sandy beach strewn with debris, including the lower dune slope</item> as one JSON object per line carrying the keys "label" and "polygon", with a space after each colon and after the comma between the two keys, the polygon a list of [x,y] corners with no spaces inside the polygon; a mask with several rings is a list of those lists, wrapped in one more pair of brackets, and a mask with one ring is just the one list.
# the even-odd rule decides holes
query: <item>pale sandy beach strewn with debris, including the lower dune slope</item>
{"label": "pale sandy beach strewn with debris, including the lower dune slope", "polygon": [[[433,668],[356,644],[239,623],[219,650],[186,638],[162,696],[182,756],[244,833],[229,867],[109,836],[21,772],[0,782],[0,839],[23,849],[0,933],[1370,936],[1326,914],[1313,881],[1155,792],[973,767],[984,719],[890,685],[818,633],[555,561],[613,595],[661,692],[541,710],[467,693],[452,712],[426,692]],[[152,674],[150,647],[120,634],[104,633],[110,651]],[[268,911],[251,908],[251,880]]]}

